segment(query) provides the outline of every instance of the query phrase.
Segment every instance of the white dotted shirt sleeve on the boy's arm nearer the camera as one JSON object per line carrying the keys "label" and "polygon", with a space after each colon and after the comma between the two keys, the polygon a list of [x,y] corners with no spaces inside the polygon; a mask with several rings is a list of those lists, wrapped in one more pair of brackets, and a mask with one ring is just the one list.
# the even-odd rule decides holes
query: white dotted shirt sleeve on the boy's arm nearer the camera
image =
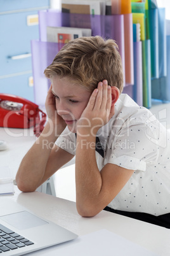
{"label": "white dotted shirt sleeve on the boy's arm nearer the camera", "polygon": [[133,122],[115,134],[109,163],[126,169],[146,171],[147,164],[154,164],[159,151],[160,127],[157,121]]}

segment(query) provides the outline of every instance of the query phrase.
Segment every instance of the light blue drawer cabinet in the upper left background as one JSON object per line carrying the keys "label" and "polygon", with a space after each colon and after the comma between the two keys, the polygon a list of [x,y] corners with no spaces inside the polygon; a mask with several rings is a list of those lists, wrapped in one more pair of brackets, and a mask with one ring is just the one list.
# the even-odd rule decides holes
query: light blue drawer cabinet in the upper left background
{"label": "light blue drawer cabinet in the upper left background", "polygon": [[39,38],[37,14],[49,0],[0,0],[0,92],[34,101],[30,41]]}

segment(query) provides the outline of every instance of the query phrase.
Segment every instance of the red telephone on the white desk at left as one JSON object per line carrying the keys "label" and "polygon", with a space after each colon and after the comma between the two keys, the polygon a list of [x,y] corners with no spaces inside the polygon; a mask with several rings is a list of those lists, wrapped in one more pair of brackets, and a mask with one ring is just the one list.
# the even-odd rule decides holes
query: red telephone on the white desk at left
{"label": "red telephone on the white desk at left", "polygon": [[[41,112],[41,119],[39,113]],[[46,114],[27,99],[11,94],[0,94],[0,127],[29,128],[34,126],[36,136],[41,134]]]}

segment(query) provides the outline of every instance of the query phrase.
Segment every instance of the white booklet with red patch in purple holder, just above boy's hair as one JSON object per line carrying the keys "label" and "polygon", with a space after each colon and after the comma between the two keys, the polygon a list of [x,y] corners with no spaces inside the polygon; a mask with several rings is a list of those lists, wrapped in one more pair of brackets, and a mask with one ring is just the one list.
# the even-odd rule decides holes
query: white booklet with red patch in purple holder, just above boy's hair
{"label": "white booklet with red patch in purple holder, just above boy's hair", "polygon": [[68,43],[81,36],[91,36],[91,29],[77,27],[47,27],[47,41],[53,43]]}

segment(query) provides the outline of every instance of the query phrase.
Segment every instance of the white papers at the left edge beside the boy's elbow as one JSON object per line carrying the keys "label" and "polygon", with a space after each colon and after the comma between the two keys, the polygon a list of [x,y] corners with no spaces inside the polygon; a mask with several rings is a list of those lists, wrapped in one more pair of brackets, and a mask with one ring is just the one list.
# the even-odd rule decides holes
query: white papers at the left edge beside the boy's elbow
{"label": "white papers at the left edge beside the boy's elbow", "polygon": [[13,178],[7,166],[0,167],[0,195],[14,194]]}

